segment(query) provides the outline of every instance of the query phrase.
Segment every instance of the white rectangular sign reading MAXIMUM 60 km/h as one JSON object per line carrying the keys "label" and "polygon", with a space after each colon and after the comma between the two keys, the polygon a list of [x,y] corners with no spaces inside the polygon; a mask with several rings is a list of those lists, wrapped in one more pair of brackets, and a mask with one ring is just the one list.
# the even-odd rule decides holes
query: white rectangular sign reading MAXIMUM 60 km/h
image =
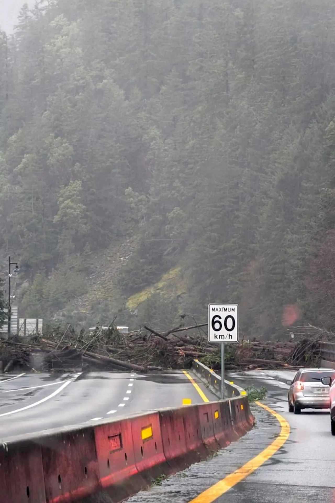
{"label": "white rectangular sign reading MAXIMUM 60 km/h", "polygon": [[208,304],[208,341],[210,343],[239,342],[239,306]]}

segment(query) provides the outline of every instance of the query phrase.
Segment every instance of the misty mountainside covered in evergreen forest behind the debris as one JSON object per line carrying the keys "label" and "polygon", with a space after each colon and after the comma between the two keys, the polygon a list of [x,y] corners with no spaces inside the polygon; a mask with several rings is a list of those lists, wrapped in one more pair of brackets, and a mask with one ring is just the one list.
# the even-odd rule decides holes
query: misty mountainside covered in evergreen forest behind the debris
{"label": "misty mountainside covered in evergreen forest behind the debris", "polygon": [[87,322],[226,301],[246,336],[282,332],[285,305],[334,325],[333,0],[48,0],[18,25],[0,247],[26,316],[69,317],[112,268]]}

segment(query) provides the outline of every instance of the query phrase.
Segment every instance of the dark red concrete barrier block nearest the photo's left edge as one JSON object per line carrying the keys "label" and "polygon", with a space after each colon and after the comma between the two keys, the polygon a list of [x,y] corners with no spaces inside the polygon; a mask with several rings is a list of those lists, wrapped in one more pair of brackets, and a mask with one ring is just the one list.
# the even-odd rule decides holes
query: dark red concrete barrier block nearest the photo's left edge
{"label": "dark red concrete barrier block nearest the photo's left edge", "polygon": [[45,501],[41,446],[33,440],[0,444],[0,502]]}

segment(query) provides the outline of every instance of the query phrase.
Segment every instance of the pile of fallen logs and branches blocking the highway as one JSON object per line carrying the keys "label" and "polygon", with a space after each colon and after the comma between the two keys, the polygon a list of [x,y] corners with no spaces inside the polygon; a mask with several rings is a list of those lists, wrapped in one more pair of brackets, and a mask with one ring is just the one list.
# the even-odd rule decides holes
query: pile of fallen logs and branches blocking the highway
{"label": "pile of fallen logs and branches blocking the highway", "polygon": [[[105,369],[149,372],[162,369],[188,368],[193,359],[218,369],[219,345],[207,341],[204,327],[195,324],[158,332],[144,326],[127,334],[120,333],[114,322],[109,328],[80,333],[68,325],[65,331],[51,330],[30,339],[0,340],[0,362],[3,370],[14,368],[33,371],[52,369]],[[319,357],[315,339],[292,341],[241,341],[229,345],[226,368],[245,370],[290,368],[306,363],[308,352],[315,363]]]}

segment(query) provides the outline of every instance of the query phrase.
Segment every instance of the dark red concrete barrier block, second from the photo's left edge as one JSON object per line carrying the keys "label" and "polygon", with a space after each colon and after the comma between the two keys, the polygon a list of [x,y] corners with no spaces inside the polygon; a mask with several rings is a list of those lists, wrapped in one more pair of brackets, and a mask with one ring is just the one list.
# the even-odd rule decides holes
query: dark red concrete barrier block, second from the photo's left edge
{"label": "dark red concrete barrier block, second from the photo's left edge", "polygon": [[52,433],[40,442],[48,503],[70,501],[99,488],[93,427]]}

